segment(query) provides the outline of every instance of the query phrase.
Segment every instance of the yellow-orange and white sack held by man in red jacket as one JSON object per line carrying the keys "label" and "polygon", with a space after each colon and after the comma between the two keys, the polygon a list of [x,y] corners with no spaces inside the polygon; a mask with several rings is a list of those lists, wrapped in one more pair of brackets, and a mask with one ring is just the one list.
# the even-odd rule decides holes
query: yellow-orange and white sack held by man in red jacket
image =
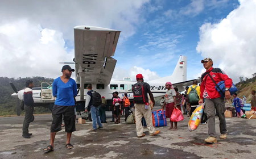
{"label": "yellow-orange and white sack held by man in red jacket", "polygon": [[194,131],[199,127],[199,124],[201,123],[201,118],[203,116],[204,112],[204,104],[201,106],[197,106],[195,111],[193,111],[189,121],[188,121],[188,130],[189,131]]}

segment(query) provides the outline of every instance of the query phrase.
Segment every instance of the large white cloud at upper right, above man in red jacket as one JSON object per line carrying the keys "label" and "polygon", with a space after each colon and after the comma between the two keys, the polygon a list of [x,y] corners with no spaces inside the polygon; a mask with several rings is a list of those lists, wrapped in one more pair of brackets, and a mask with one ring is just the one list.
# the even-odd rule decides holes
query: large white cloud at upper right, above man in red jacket
{"label": "large white cloud at upper right, above man in red jacket", "polygon": [[256,68],[256,1],[241,0],[240,6],[220,23],[200,27],[197,52],[212,57],[214,66],[224,69],[234,82],[251,77]]}

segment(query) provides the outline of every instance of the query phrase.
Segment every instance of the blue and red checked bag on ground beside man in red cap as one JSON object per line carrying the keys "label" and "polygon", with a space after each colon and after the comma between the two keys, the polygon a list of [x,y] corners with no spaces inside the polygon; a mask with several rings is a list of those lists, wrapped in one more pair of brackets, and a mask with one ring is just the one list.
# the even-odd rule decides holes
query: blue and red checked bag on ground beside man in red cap
{"label": "blue and red checked bag on ground beside man in red cap", "polygon": [[164,127],[167,126],[166,121],[166,111],[156,110],[152,112],[152,120],[154,127]]}

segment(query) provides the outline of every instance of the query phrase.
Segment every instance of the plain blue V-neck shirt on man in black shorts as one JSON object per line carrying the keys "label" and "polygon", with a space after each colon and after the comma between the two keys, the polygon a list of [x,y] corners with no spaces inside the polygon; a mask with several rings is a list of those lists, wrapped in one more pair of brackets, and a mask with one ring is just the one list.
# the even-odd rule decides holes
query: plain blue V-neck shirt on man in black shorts
{"label": "plain blue V-neck shirt on man in black shorts", "polygon": [[59,106],[75,106],[77,95],[76,82],[69,78],[67,83],[61,81],[60,77],[56,78],[52,83],[52,94],[56,97],[55,105]]}

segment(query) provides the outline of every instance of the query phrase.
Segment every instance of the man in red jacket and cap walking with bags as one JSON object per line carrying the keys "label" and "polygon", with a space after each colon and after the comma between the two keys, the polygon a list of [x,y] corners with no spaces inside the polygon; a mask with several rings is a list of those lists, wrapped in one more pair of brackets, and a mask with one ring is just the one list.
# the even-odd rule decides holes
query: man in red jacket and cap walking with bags
{"label": "man in red jacket and cap walking with bags", "polygon": [[[229,88],[232,86],[232,79],[229,78],[225,72],[219,68],[213,68],[212,58],[205,58],[201,60],[204,65],[206,72],[201,76],[201,87],[200,87],[200,100],[199,104],[205,101],[205,113],[208,118],[208,135],[204,141],[207,143],[216,143],[216,131],[215,131],[215,110],[220,120],[220,139],[226,139],[226,119],[224,112],[226,110],[224,98],[221,97],[220,93],[215,88],[215,83],[225,81],[225,98],[230,99],[231,95]],[[212,76],[213,80],[210,78]]]}

